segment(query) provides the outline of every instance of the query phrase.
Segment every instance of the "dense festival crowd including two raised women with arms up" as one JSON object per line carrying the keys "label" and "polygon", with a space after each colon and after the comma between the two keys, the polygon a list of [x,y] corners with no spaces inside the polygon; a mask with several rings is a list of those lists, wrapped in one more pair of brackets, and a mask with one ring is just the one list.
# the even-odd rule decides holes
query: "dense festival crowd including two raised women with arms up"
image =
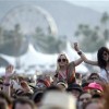
{"label": "dense festival crowd including two raised women with arms up", "polygon": [[[34,84],[16,75],[13,65],[5,66],[0,80],[0,109],[108,109],[109,49],[99,48],[97,61],[88,60],[77,43],[74,49],[80,59],[69,62],[66,55],[59,55],[55,75],[40,76]],[[83,78],[75,71],[82,62],[98,65],[100,72]]]}

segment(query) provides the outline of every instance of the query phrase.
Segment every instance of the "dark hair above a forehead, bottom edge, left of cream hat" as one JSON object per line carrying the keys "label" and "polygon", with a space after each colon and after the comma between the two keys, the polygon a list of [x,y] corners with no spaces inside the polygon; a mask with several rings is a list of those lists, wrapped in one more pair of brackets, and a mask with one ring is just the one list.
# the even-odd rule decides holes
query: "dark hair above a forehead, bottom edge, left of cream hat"
{"label": "dark hair above a forehead, bottom edge, left of cream hat", "polygon": [[35,109],[35,105],[32,100],[29,100],[28,98],[17,98],[13,101],[13,106],[12,109],[15,109],[16,104],[21,104],[21,105],[29,105],[32,109]]}

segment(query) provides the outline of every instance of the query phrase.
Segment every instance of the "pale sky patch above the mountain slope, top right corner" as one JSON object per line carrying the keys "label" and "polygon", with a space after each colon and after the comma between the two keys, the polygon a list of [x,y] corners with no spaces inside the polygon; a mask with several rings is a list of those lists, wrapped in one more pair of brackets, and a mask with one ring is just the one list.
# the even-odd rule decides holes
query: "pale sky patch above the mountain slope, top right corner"
{"label": "pale sky patch above the mountain slope, top right corner", "polygon": [[109,13],[109,0],[65,0],[73,4],[87,7],[98,12],[107,11]]}

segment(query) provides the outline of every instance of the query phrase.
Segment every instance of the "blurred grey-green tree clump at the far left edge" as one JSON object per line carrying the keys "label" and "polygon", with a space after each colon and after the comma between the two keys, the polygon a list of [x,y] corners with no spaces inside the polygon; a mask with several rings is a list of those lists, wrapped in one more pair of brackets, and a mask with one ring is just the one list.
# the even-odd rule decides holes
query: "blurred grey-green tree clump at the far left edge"
{"label": "blurred grey-green tree clump at the far left edge", "polygon": [[1,29],[2,43],[0,43],[0,52],[19,57],[26,51],[26,40],[24,39],[24,35],[20,32],[21,27],[19,24],[14,26],[14,29]]}

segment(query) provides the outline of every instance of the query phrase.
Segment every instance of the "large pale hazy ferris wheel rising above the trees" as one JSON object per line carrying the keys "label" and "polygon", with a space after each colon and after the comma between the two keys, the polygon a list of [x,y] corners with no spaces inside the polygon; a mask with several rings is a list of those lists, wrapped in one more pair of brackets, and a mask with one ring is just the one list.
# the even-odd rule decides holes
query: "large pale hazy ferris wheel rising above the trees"
{"label": "large pale hazy ferris wheel rising above the trees", "polygon": [[16,24],[20,24],[24,34],[33,33],[38,26],[45,31],[49,29],[53,36],[58,34],[53,17],[45,9],[34,4],[24,4],[11,9],[2,17],[0,26],[5,29],[13,29]]}

